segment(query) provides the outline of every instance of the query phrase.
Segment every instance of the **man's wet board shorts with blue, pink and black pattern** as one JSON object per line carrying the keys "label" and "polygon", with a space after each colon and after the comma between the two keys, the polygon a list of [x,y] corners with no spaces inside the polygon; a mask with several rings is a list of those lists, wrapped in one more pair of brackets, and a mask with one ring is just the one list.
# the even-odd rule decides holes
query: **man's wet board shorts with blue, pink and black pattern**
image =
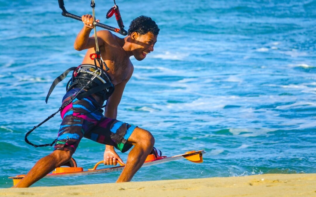
{"label": "man's wet board shorts with blue, pink and black pattern", "polygon": [[[63,104],[80,89],[72,89],[63,98]],[[81,100],[74,99],[60,112],[63,119],[58,131],[54,150],[66,150],[75,153],[82,137],[119,149],[122,153],[132,145],[126,143],[136,126],[116,119],[106,118],[103,110],[92,96]]]}

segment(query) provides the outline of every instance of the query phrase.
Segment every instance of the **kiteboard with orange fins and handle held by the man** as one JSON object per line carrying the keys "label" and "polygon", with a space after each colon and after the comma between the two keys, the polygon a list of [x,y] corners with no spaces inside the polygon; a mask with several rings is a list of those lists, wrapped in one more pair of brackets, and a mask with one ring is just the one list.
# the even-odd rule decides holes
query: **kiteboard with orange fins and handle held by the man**
{"label": "kiteboard with orange fins and handle held by the man", "polygon": [[[190,151],[190,152],[186,152],[185,154],[179,154],[179,155],[175,155],[172,157],[165,157],[165,158],[161,158],[161,159],[156,159],[153,161],[148,161],[145,162],[142,167],[145,166],[150,166],[150,165],[157,165],[157,164],[162,164],[162,163],[166,163],[169,161],[174,161],[174,160],[178,160],[178,159],[188,159],[191,162],[195,162],[195,163],[202,163],[203,162],[203,158],[202,155],[205,153],[204,150],[200,150],[200,151]],[[100,162],[99,162],[100,163]],[[97,164],[98,165],[98,164]],[[78,172],[63,172],[63,173],[50,173],[47,174],[44,178],[52,178],[52,177],[70,177],[70,176],[80,176],[80,175],[90,175],[90,174],[99,174],[99,173],[108,173],[108,172],[114,172],[114,171],[121,171],[124,169],[125,165],[121,165],[121,166],[117,166],[117,167],[111,167],[111,168],[103,168],[103,169],[95,169],[96,166],[94,167],[94,169],[92,170],[87,170],[87,171],[78,171]],[[19,179],[22,179],[25,175],[18,175],[16,177],[9,177],[11,179],[13,179],[13,181],[15,182],[15,180],[18,182]],[[16,184],[16,183],[15,183]]]}

